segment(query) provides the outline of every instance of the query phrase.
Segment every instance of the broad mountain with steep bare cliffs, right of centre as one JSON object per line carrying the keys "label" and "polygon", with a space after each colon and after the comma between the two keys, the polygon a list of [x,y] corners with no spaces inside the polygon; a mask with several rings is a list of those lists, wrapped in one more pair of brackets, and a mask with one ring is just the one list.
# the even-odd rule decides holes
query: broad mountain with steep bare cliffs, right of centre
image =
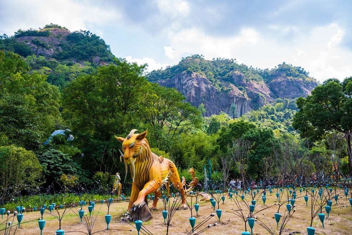
{"label": "broad mountain with steep bare cliffs, right of centre", "polygon": [[237,116],[241,116],[277,98],[310,95],[318,85],[303,68],[286,63],[271,70],[258,69],[238,64],[234,59],[208,61],[200,55],[182,58],[165,70],[152,71],[147,78],[175,87],[196,107],[203,103],[206,116],[221,111],[230,115],[232,104],[237,108]]}

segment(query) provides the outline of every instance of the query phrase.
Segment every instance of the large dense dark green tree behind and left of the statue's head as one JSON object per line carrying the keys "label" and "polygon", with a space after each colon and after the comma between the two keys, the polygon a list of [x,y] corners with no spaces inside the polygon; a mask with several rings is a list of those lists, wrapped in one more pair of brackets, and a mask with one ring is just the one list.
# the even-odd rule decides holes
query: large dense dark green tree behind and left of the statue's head
{"label": "large dense dark green tree behind and left of the statue's head", "polygon": [[145,65],[124,59],[115,63],[77,77],[63,90],[63,116],[77,136],[86,165],[109,174],[114,173],[120,156],[114,135],[139,128],[137,113],[147,84],[142,76]]}

